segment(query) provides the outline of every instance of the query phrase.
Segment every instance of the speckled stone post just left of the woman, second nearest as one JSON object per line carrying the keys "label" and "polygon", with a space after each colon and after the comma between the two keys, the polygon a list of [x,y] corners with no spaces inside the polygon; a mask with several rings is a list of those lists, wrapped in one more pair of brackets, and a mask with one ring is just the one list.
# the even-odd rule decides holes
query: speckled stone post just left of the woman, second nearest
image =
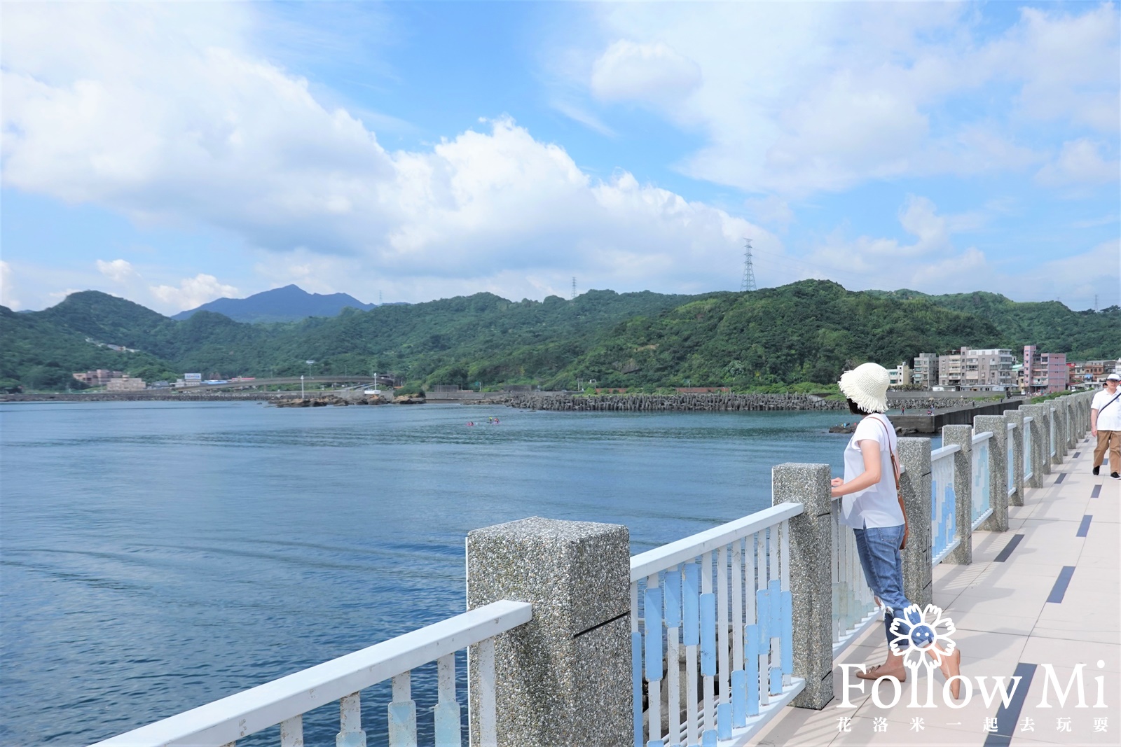
{"label": "speckled stone post just left of the woman, second nearest", "polygon": [[798,708],[821,710],[833,699],[833,522],[830,466],[771,468],[771,503],[800,503],[790,520],[790,596],[794,603],[794,673],[806,688]]}

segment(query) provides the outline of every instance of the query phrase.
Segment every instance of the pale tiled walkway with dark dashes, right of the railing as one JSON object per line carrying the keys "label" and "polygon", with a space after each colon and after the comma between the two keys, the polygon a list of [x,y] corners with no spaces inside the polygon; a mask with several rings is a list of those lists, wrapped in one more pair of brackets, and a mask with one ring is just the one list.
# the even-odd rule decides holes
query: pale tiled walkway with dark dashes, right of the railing
{"label": "pale tiled walkway with dark dashes, right of the railing", "polygon": [[[991,693],[994,676],[1008,682],[1018,667],[1021,674],[1031,673],[1019,712],[1000,711],[999,697],[986,706],[976,692],[951,708],[942,699],[944,680],[937,671],[933,708],[910,706],[915,682],[909,679],[893,707],[877,706],[865,684],[865,694],[850,690],[853,708],[842,709],[843,673],[837,666],[833,702],[822,711],[786,709],[752,744],[1121,744],[1121,480],[1111,479],[1108,468],[1094,477],[1091,465],[1092,447],[1086,439],[1067,455],[1065,464],[1051,466],[1044,487],[1027,491],[1023,506],[1009,510],[1008,532],[973,535],[971,566],[943,563],[934,569],[934,604],[956,625],[952,637],[962,650],[962,674],[974,684],[978,678],[988,678],[984,682]],[[1022,539],[1007,558],[998,560],[1016,535]],[[1073,570],[1064,573],[1064,568]],[[1064,576],[1069,577],[1065,590],[1057,583]],[[836,664],[878,664],[886,650],[883,628],[876,626]],[[1054,683],[1046,685],[1043,665],[1051,665],[1063,690],[1080,663],[1085,665],[1085,707],[1078,707],[1076,685],[1065,707],[1059,707]],[[1094,707],[1097,678],[1102,678],[1104,708]],[[925,679],[921,685],[916,700],[925,704]],[[1045,687],[1050,708],[1041,708]],[[890,704],[892,688],[886,682],[879,688],[881,702]],[[843,725],[842,717],[852,720]],[[986,718],[998,719],[997,732],[988,730]],[[921,729],[916,729],[916,719],[921,719]]]}

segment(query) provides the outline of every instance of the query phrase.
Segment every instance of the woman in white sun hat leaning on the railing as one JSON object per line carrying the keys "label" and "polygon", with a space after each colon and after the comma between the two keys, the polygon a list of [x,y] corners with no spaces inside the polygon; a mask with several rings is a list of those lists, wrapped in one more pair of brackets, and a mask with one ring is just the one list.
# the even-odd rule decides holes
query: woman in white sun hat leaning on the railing
{"label": "woman in white sun hat leaning on the railing", "polygon": [[[841,523],[851,526],[856,536],[856,553],[869,588],[883,604],[888,614],[883,625],[888,636],[888,657],[883,664],[858,672],[863,680],[892,676],[906,681],[904,656],[890,650],[896,638],[891,624],[898,619],[898,632],[906,634],[910,624],[905,610],[911,605],[904,595],[902,553],[907,545],[907,512],[899,495],[899,467],[896,429],[883,414],[888,409],[888,371],[876,363],[864,363],[845,372],[840,381],[841,393],[849,409],[861,415],[844,450],[844,478],[833,479],[833,497],[841,499]],[[921,521],[921,517],[919,517]],[[906,646],[902,646],[906,647]],[[946,679],[961,673],[962,652],[954,648],[929,651]],[[956,699],[961,680],[951,683]]]}

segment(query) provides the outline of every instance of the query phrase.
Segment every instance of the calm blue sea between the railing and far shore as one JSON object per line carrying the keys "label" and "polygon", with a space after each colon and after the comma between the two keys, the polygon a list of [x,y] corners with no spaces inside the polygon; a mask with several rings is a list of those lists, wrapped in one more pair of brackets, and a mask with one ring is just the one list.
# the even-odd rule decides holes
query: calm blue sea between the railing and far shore
{"label": "calm blue sea between the railing and far shore", "polygon": [[[639,552],[743,516],[775,464],[839,470],[825,429],[847,419],[0,405],[0,744],[89,744],[461,613],[479,526],[622,523]],[[414,680],[429,732],[434,679]],[[363,695],[370,745],[386,690]],[[337,715],[305,717],[307,744]]]}

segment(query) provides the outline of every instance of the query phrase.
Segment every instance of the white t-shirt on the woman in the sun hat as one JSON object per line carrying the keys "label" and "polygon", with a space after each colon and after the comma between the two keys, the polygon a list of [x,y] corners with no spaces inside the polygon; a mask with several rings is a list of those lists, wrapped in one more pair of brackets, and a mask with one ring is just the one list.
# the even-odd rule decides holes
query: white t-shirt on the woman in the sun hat
{"label": "white t-shirt on the woman in the sun hat", "polygon": [[864,474],[864,454],[860,450],[860,442],[864,440],[880,445],[880,482],[863,491],[841,496],[841,523],[855,529],[899,526],[904,523],[904,512],[899,507],[891,466],[891,452],[896,454],[898,460],[899,451],[896,446],[896,428],[887,415],[865,415],[856,424],[844,450],[844,482]]}

